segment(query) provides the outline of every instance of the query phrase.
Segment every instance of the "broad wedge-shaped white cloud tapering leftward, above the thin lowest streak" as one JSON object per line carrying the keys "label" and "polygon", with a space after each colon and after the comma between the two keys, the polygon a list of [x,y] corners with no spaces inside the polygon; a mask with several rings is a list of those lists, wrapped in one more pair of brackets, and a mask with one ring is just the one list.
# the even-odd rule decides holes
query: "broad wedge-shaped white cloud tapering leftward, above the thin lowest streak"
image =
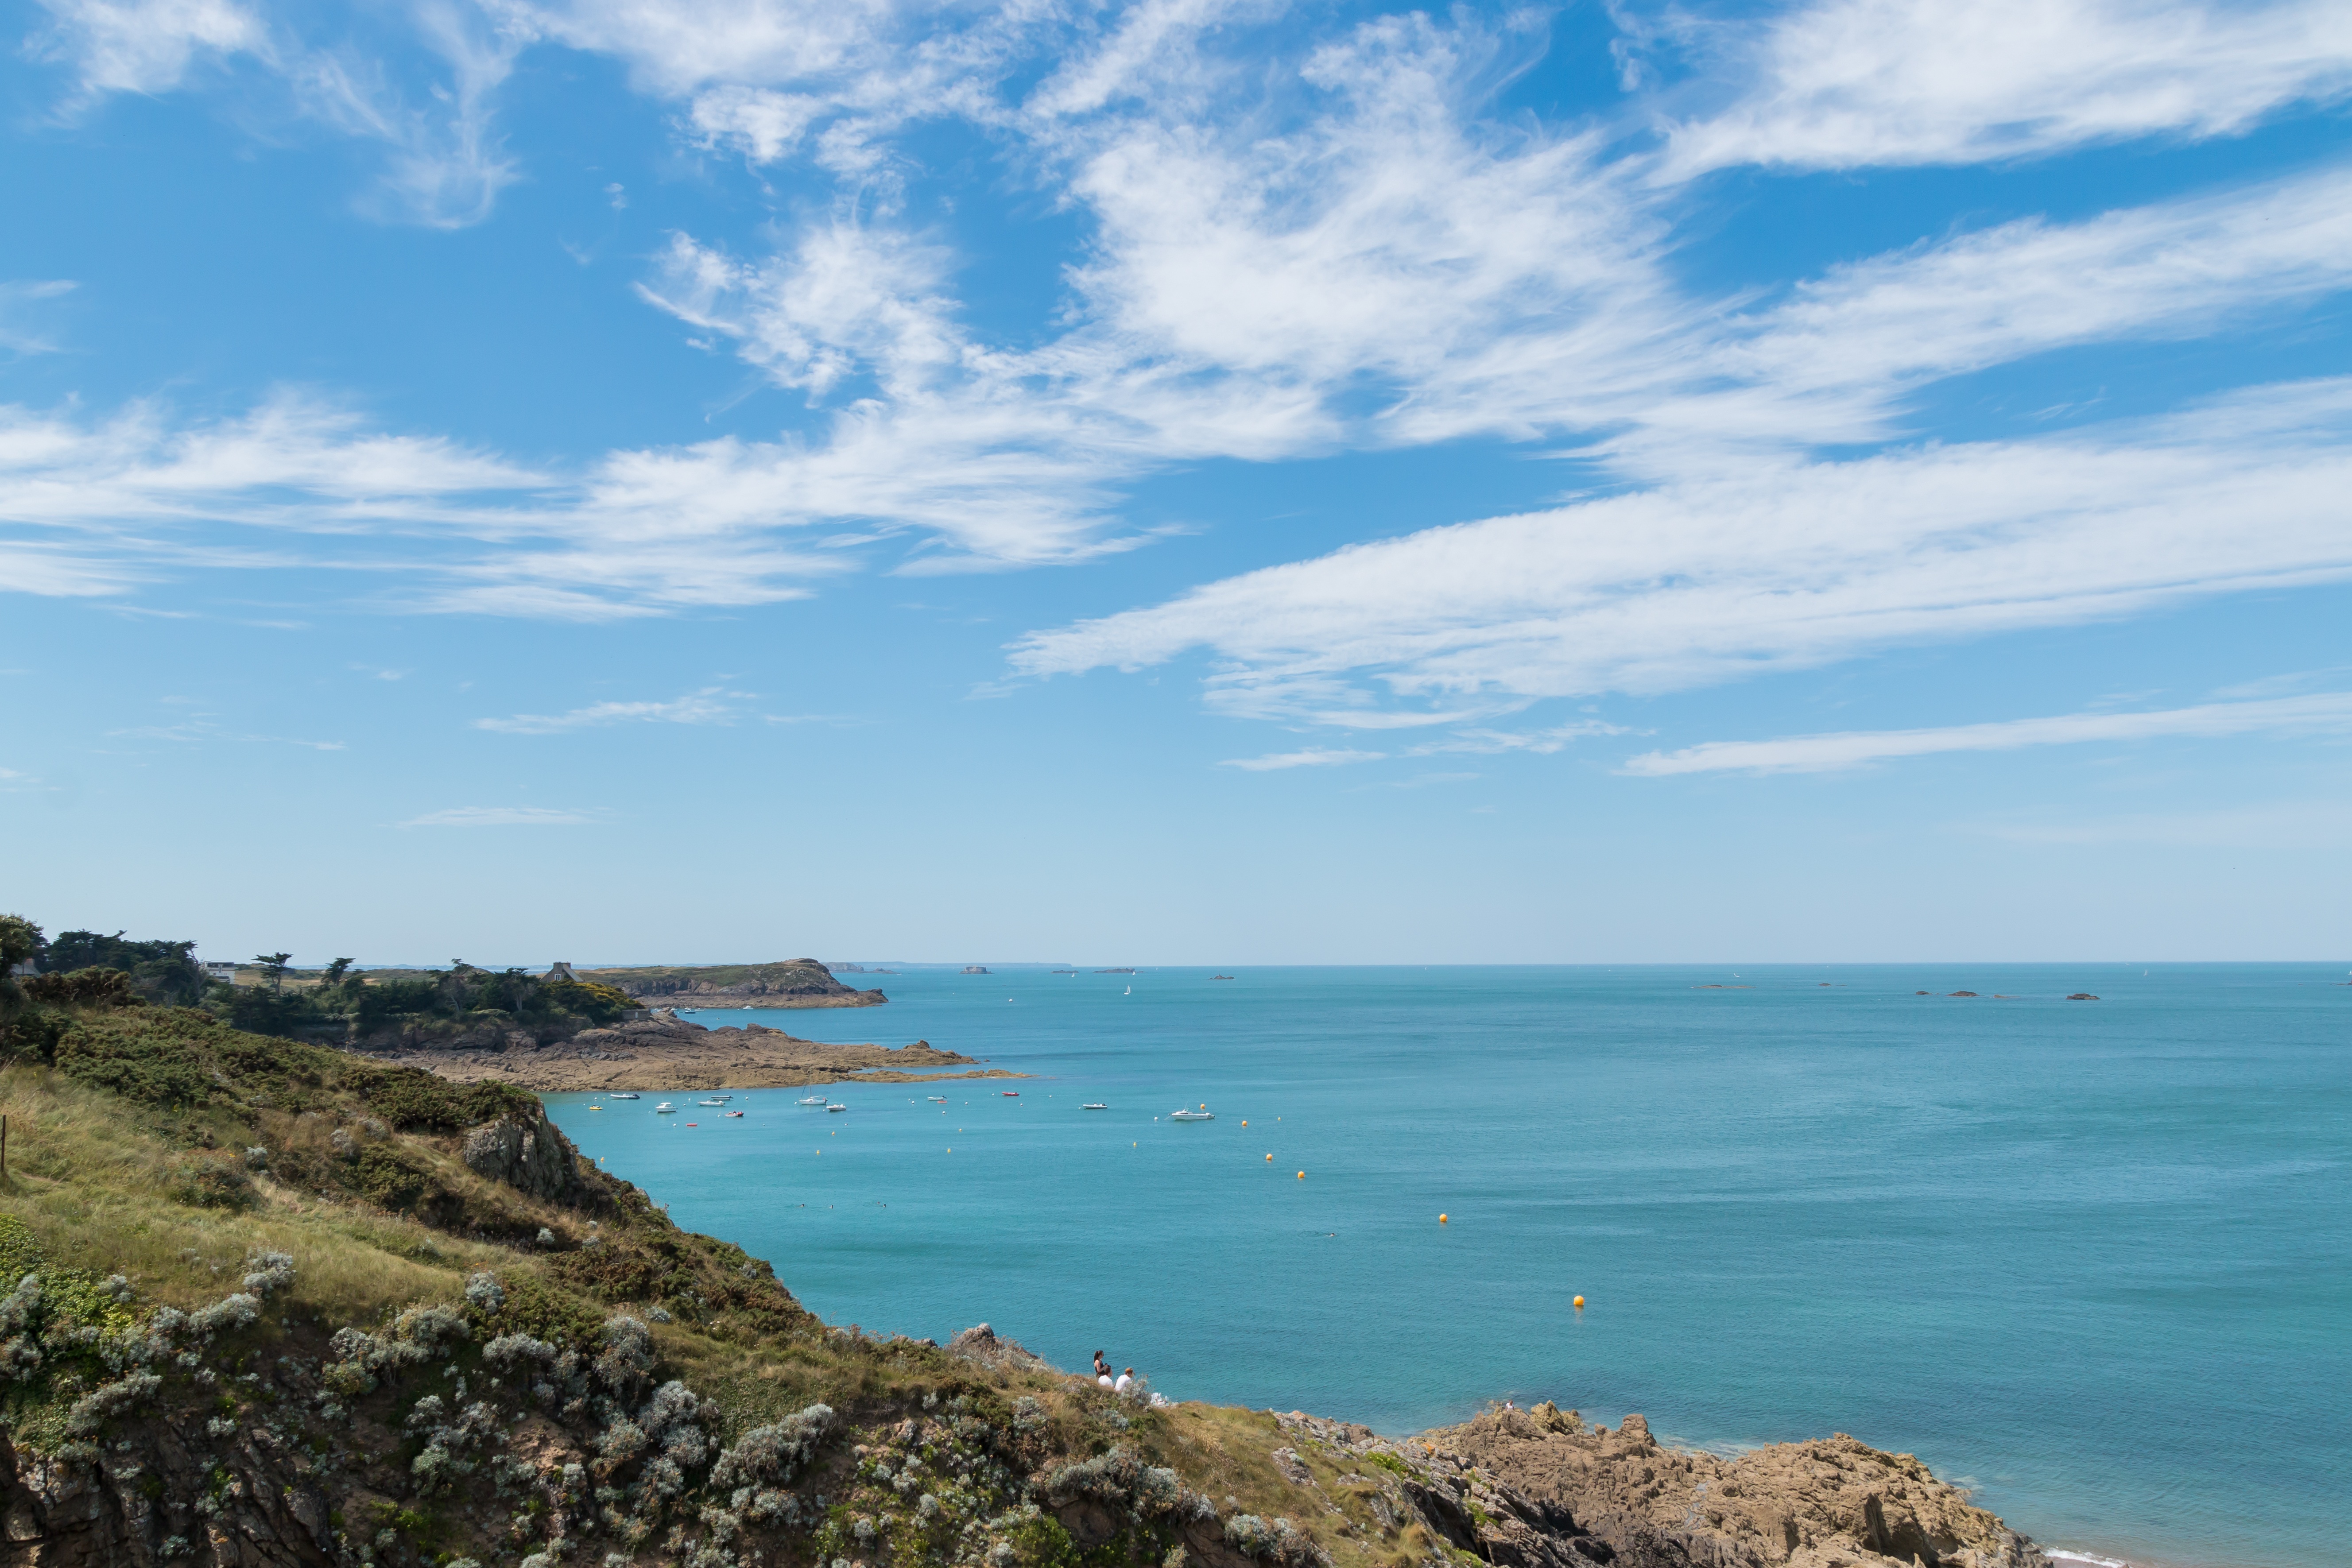
{"label": "broad wedge-shaped white cloud tapering leftward, above the thin lowest streak", "polygon": [[1209,701],[1371,705],[1668,691],[1903,642],[2352,576],[2352,381],[2037,442],[1776,463],[1425,529],[1033,632],[1023,675],[1209,649]]}

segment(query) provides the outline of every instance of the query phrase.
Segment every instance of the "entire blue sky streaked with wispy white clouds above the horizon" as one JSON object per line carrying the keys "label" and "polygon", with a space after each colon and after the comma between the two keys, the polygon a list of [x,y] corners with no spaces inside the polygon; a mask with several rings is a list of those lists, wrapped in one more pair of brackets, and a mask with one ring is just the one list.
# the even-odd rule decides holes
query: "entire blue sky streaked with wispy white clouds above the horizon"
{"label": "entire blue sky streaked with wispy white clouds above the horizon", "polygon": [[12,16],[49,929],[2352,950],[2340,2]]}

